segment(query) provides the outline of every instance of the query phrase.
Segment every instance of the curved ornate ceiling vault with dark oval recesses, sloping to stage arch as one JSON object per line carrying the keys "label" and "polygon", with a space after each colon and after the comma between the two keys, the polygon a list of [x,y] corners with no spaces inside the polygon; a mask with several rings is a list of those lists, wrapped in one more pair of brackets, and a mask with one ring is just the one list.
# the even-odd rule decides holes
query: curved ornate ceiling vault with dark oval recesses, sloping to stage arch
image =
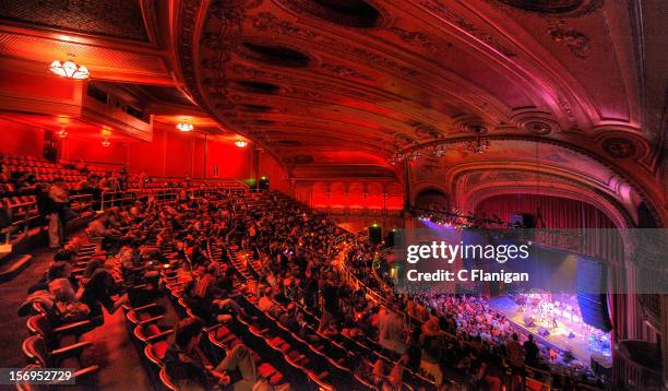
{"label": "curved ornate ceiling vault with dark oval recesses, sloping to stage arch", "polygon": [[[664,129],[643,100],[656,64],[636,56],[640,11],[604,0],[182,0],[176,45],[201,107],[297,177],[406,176],[394,153],[461,146],[478,130],[487,154],[431,165],[534,162],[525,169],[577,176],[632,214],[652,192]],[[409,166],[416,186],[436,179],[415,168],[425,164]]]}

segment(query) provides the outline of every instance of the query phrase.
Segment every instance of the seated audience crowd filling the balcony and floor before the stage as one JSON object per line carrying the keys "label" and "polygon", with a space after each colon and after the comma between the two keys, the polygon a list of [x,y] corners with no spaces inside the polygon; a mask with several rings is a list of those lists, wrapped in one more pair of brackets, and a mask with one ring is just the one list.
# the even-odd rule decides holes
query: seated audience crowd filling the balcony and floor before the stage
{"label": "seated audience crowd filling the balcony and floor before the stage", "polygon": [[[49,198],[67,208],[67,191],[53,186]],[[61,321],[92,317],[103,324],[103,308],[114,312],[128,303],[129,284],[158,291],[169,265],[184,281],[181,298],[191,316],[177,325],[164,365],[183,387],[276,388],[250,358],[258,346],[238,344],[217,364],[198,352],[205,328],[254,320],[239,297],[246,294],[258,298],[262,313],[309,343],[345,339],[373,346],[378,358],[338,363],[373,388],[398,390],[426,378],[439,389],[514,390],[525,387],[527,375],[547,374],[552,387],[574,390],[584,380],[536,369],[550,370],[553,353],[546,354],[532,337],[523,342],[481,297],[393,295],[373,268],[379,245],[279,193],[195,199],[183,192],[172,202],[138,201],[98,214],[87,233],[102,240],[109,258],[90,262],[83,280],[76,280],[68,248],[73,245],[65,246],[31,288],[28,301],[43,300]],[[160,249],[180,261],[166,259]],[[118,275],[109,264],[118,265]],[[314,328],[311,317],[318,320]]]}

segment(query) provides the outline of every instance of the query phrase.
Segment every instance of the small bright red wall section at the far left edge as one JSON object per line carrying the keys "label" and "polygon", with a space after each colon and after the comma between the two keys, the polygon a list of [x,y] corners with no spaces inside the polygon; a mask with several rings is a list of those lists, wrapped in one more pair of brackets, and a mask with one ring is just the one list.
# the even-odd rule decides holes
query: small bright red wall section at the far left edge
{"label": "small bright red wall section at the far left edge", "polygon": [[44,130],[0,118],[0,153],[41,157]]}

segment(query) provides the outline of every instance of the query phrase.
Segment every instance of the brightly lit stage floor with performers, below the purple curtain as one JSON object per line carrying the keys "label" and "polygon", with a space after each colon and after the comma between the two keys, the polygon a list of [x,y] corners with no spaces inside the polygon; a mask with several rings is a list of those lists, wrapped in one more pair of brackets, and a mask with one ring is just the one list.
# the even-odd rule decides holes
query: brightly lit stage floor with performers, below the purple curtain
{"label": "brightly lit stage floor with performers, below the purple curtain", "polygon": [[[557,318],[557,328],[546,328],[550,334],[542,336],[538,334],[538,329],[541,324],[536,324],[530,328],[524,325],[525,313],[517,312],[518,306],[509,297],[494,297],[489,301],[494,309],[505,315],[517,329],[534,334],[535,339],[548,346],[552,346],[562,352],[570,351],[583,365],[591,365],[589,359],[592,351],[589,348],[589,335],[586,327],[574,322],[570,323],[569,320],[564,318]],[[575,334],[574,337],[569,337],[571,332]]]}

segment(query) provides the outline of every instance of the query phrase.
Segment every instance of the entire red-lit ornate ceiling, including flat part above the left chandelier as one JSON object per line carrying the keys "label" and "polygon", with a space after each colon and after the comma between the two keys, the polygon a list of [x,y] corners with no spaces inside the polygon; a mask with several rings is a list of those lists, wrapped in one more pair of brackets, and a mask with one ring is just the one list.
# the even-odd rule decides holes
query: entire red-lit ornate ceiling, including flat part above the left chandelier
{"label": "entire red-lit ornate ceiling, including flat part above the left chandelier", "polygon": [[524,191],[580,187],[624,218],[645,199],[668,222],[661,0],[60,3],[0,5],[0,60],[73,52],[100,81],[162,85],[132,90],[165,107],[187,92],[297,180],[439,182],[468,204],[512,171]]}

